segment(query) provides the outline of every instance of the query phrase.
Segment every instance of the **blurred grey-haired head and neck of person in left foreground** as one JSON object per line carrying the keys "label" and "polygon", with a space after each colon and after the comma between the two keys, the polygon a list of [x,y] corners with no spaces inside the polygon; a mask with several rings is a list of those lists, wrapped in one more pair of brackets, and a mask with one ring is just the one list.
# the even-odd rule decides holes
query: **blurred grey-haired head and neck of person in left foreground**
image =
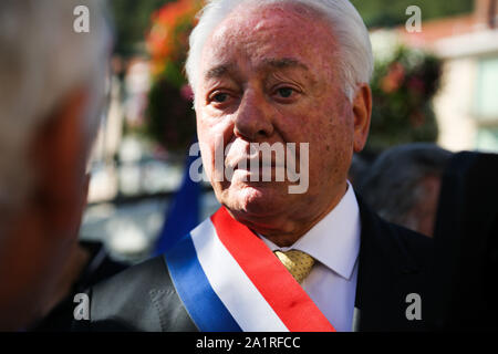
{"label": "blurred grey-haired head and neck of person in left foreground", "polygon": [[77,242],[112,44],[103,4],[0,1],[0,329],[38,316]]}

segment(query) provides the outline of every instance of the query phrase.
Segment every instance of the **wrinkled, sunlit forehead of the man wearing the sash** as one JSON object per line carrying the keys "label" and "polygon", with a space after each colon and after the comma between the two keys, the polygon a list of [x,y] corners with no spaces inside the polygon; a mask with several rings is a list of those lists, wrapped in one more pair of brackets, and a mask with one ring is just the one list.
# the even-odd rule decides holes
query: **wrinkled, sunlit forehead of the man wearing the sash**
{"label": "wrinkled, sunlit forehead of the man wearing the sash", "polygon": [[336,51],[330,24],[315,10],[302,4],[242,4],[212,31],[203,49],[205,77],[214,66],[252,64],[295,59],[303,64],[330,61]]}

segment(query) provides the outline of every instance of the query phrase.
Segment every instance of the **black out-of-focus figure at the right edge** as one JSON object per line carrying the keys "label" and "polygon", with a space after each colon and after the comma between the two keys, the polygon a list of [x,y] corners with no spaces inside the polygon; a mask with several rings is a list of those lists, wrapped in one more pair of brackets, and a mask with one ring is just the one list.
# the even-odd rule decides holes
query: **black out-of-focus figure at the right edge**
{"label": "black out-of-focus figure at the right edge", "polygon": [[497,154],[455,154],[443,175],[426,305],[435,330],[498,329],[497,180]]}

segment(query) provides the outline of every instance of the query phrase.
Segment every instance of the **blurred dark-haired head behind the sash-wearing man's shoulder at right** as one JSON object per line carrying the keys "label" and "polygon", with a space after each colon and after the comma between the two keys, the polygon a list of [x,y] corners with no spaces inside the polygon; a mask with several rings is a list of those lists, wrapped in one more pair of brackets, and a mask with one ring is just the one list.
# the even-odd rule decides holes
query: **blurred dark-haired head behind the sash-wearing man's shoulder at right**
{"label": "blurred dark-haired head behind the sash-wearing man's shoulder at right", "polygon": [[387,221],[432,237],[442,175],[450,157],[435,144],[392,147],[362,176],[360,194]]}

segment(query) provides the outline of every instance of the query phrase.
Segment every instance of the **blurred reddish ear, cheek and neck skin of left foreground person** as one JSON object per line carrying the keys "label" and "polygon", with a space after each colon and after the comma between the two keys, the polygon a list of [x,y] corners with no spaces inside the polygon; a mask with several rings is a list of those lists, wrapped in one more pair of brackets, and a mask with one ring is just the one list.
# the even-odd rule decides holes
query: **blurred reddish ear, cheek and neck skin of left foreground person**
{"label": "blurred reddish ear, cheek and neck skin of left foreground person", "polygon": [[1,235],[0,331],[30,329],[62,300],[86,262],[77,235],[86,204],[89,142],[81,134],[87,88],[54,110],[29,146],[37,178]]}

